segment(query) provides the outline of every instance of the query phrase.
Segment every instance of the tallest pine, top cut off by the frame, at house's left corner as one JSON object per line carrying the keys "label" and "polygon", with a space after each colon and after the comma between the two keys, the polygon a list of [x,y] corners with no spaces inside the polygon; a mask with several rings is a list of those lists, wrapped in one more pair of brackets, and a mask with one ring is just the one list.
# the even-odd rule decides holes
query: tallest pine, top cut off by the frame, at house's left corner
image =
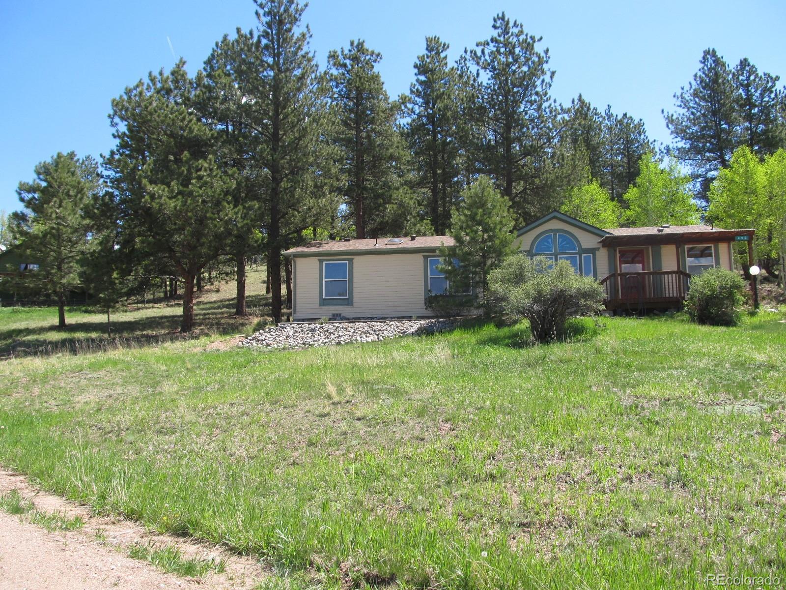
{"label": "tallest pine, top cut off by the frame, at house's left corner", "polygon": [[281,321],[281,253],[288,241],[323,216],[318,167],[329,90],[302,26],[306,6],[296,0],[255,0],[258,58],[249,65],[250,125],[262,138],[255,166],[263,179],[261,219],[270,269],[270,304]]}

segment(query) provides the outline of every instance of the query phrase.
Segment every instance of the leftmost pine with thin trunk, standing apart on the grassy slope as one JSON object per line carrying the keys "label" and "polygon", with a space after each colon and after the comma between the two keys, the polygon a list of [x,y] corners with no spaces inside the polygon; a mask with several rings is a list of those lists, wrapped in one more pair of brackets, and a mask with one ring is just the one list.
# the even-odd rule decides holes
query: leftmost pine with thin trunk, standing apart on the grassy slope
{"label": "leftmost pine with thin trunk, standing apart on the grassy slope", "polygon": [[83,265],[90,249],[86,209],[101,190],[96,161],[58,152],[35,167],[35,180],[17,189],[23,210],[11,215],[11,232],[20,256],[38,264],[19,277],[29,289],[57,300],[57,327],[65,327],[69,291],[83,285]]}

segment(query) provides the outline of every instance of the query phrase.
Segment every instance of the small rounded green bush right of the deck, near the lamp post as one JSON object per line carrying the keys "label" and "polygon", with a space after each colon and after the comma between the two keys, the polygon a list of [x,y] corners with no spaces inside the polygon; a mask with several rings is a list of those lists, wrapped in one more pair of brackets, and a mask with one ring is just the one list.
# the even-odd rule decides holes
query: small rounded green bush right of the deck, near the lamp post
{"label": "small rounded green bush right of the deck, near the lamp post", "polygon": [[736,272],[710,268],[691,279],[685,311],[690,319],[711,326],[733,326],[740,321],[745,283]]}

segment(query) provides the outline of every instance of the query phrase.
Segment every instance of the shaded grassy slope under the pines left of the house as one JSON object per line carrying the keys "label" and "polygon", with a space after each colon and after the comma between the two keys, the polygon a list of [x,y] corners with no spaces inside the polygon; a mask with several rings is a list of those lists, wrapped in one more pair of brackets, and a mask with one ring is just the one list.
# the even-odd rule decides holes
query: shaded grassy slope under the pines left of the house
{"label": "shaded grassy slope under the pines left of the house", "polygon": [[[235,283],[206,286],[196,294],[197,330],[211,334],[240,334],[270,315],[265,293],[265,268],[249,270],[246,279],[247,318],[235,318]],[[171,340],[180,328],[182,299],[141,301],[112,312],[112,337],[121,345]],[[0,308],[0,357],[26,353],[50,354],[61,350],[81,352],[108,345],[106,312],[97,308],[66,308],[64,330],[57,330],[57,308]]]}

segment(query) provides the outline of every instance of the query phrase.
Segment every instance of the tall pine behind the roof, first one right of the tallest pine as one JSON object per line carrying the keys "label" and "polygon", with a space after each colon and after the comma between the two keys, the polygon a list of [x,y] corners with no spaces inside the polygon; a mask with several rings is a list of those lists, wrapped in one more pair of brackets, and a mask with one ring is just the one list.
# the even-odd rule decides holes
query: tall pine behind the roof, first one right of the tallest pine
{"label": "tall pine behind the roof, first one right of the tallest pine", "polygon": [[405,157],[396,130],[399,105],[390,101],[376,64],[382,55],[361,39],[329,53],[333,142],[340,150],[343,196],[357,238],[385,235],[387,211],[399,190],[395,165]]}

